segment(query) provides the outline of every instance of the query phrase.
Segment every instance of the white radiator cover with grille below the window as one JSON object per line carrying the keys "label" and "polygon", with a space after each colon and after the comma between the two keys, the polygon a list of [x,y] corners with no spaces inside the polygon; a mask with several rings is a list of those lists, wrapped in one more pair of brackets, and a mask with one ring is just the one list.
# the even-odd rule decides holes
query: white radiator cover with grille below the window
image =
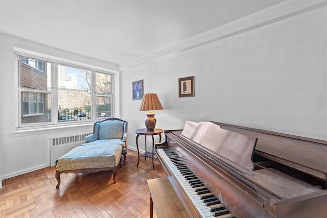
{"label": "white radiator cover with grille below the window", "polygon": [[61,156],[76,148],[77,146],[80,146],[81,144],[85,143],[85,136],[88,136],[90,134],[91,133],[49,138],[50,166],[56,165],[56,160],[58,160]]}

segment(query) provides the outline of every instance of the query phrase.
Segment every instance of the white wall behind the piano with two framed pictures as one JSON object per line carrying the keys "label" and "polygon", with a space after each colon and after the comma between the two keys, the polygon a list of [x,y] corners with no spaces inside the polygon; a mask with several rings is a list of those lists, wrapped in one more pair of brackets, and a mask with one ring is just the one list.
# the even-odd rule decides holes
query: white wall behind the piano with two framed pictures
{"label": "white wall behind the piano with two framed pictures", "polygon": [[[321,2],[290,1],[121,66],[129,148],[134,130],[145,128],[147,112],[132,101],[132,82],[142,79],[144,93],[157,93],[164,107],[153,111],[156,128],[214,120],[327,140]],[[195,76],[195,96],[178,98],[178,78],[188,76]]]}

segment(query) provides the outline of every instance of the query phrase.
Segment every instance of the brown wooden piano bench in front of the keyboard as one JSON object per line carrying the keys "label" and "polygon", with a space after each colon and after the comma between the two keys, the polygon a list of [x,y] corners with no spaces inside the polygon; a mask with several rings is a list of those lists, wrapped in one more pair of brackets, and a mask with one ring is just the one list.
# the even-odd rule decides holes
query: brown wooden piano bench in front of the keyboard
{"label": "brown wooden piano bench in front of the keyboard", "polygon": [[191,217],[167,177],[149,179],[147,182],[150,190],[150,218],[153,217],[153,205],[158,218]]}

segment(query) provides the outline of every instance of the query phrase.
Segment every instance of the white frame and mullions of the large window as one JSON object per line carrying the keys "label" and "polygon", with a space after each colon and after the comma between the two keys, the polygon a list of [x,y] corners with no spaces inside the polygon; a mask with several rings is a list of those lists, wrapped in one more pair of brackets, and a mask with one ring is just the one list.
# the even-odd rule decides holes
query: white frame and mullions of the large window
{"label": "white frame and mullions of the large window", "polygon": [[[19,49],[20,50],[20,49]],[[49,55],[42,55],[42,54],[38,54],[35,55],[33,54],[34,52],[30,53],[25,53],[25,52],[20,52],[20,51],[15,51],[14,52],[14,60],[15,60],[15,87],[17,87],[16,90],[17,91],[17,95],[16,95],[16,118],[15,118],[15,126],[16,126],[16,130],[24,130],[24,129],[35,129],[35,128],[43,128],[45,126],[72,126],[72,125],[81,125],[81,124],[85,124],[85,123],[94,123],[95,120],[99,120],[99,119],[103,119],[103,117],[97,117],[96,116],[96,91],[95,91],[95,75],[96,72],[100,72],[102,74],[108,74],[111,76],[111,93],[110,94],[106,94],[106,96],[110,95],[111,96],[111,114],[110,117],[114,117],[115,113],[114,113],[114,108],[115,108],[115,101],[114,101],[114,82],[117,82],[114,79],[115,73],[118,73],[119,71],[116,70],[110,70],[107,68],[103,68],[103,67],[96,67],[96,66],[90,66],[88,64],[83,64],[83,63],[79,63],[79,64],[75,64],[72,62],[74,61],[70,61],[70,60],[66,60],[66,59],[62,59],[62,58],[55,58],[50,56],[51,58],[49,58]],[[20,80],[20,73],[19,73],[19,57],[23,56],[23,57],[28,57],[31,59],[35,59],[35,60],[40,60],[40,61],[46,61],[46,62],[51,62],[51,71],[52,71],[52,86],[51,86],[51,90],[49,91],[44,91],[44,90],[30,90],[30,89],[24,89],[24,88],[20,88],[19,85],[19,80]],[[25,63],[26,64],[26,63]],[[86,69],[86,70],[90,70],[91,71],[91,119],[87,120],[87,121],[79,121],[79,122],[67,122],[67,123],[59,123],[58,122],[58,86],[57,86],[57,65],[64,65],[64,66],[69,66],[69,67],[75,67],[75,68],[80,68],[80,69]],[[33,67],[33,66],[32,66]],[[38,69],[39,70],[39,69]],[[40,70],[41,71],[41,70]],[[21,106],[21,93],[22,92],[34,92],[34,93],[43,93],[43,94],[51,94],[51,116],[52,116],[52,122],[46,122],[46,123],[31,123],[31,124],[21,124],[21,113],[22,110],[20,108]],[[44,114],[44,102],[43,102],[43,114]],[[33,114],[36,115],[36,114]],[[107,117],[106,117],[107,118]]]}

